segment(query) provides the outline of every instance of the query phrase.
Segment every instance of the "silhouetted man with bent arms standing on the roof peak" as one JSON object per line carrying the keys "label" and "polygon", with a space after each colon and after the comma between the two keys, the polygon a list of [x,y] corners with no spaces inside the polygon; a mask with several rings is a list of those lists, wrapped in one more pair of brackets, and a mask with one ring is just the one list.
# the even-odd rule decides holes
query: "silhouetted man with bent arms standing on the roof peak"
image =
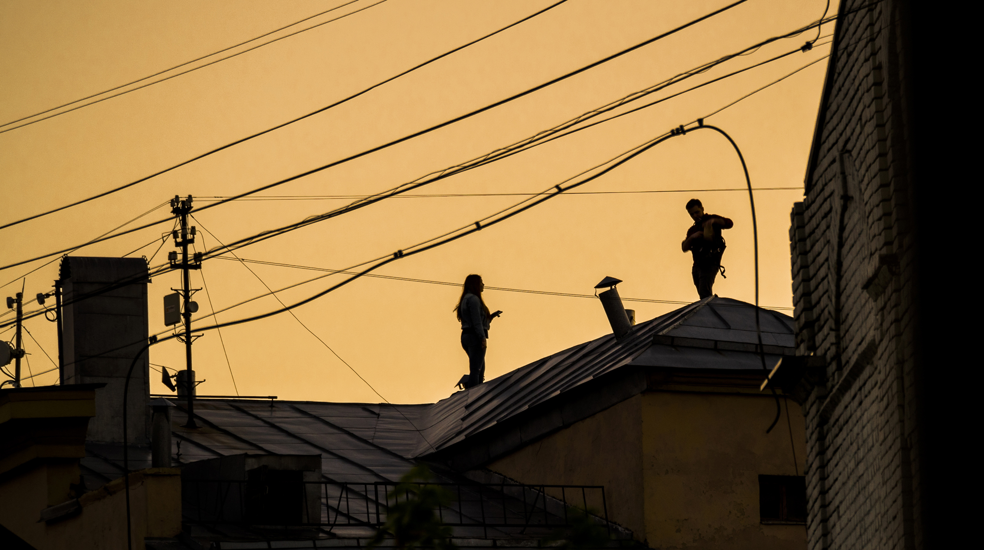
{"label": "silhouetted man with bent arms standing on the roof peak", "polygon": [[687,214],[694,218],[694,224],[687,228],[687,238],[681,248],[694,255],[694,286],[701,299],[713,295],[714,277],[718,270],[724,276],[721,256],[724,254],[724,237],[721,229],[730,229],[734,222],[717,214],[704,214],[704,205],[697,199],[687,202]]}

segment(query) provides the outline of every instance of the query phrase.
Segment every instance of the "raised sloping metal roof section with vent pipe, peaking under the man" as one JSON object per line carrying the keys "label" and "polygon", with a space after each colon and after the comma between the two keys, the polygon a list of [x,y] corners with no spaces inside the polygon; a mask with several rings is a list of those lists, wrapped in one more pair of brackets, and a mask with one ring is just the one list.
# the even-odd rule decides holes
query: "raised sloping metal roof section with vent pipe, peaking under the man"
{"label": "raised sloping metal roof section with vent pipe, peaking under the man", "polygon": [[[792,318],[761,309],[767,365],[795,345]],[[627,364],[689,369],[761,369],[755,306],[711,296],[613,335],[584,342],[432,405],[412,456],[461,442],[510,416]]]}

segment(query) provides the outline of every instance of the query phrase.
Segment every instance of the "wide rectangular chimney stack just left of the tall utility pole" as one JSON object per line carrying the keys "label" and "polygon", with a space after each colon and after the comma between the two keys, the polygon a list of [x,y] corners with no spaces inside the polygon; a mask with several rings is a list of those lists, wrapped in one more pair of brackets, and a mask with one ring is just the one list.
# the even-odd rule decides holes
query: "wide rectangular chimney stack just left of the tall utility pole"
{"label": "wide rectangular chimney stack just left of the tall utility pole", "polygon": [[[147,262],[143,258],[62,259],[64,384],[103,383],[95,392],[88,441],[123,443],[123,383],[134,356],[147,343]],[[71,303],[75,300],[75,303]],[[117,349],[119,348],[119,349]],[[137,361],[127,397],[129,445],[147,446],[151,387],[148,352]]]}

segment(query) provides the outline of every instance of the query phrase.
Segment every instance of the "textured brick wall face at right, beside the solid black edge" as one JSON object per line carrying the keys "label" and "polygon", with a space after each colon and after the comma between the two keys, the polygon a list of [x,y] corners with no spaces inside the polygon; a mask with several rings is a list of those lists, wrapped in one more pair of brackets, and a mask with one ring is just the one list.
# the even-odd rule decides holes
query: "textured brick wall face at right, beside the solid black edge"
{"label": "textured brick wall face at right, beside the solid black edge", "polygon": [[921,548],[897,3],[844,0],[839,13],[806,198],[789,230],[797,353],[827,364],[804,403],[809,548]]}

